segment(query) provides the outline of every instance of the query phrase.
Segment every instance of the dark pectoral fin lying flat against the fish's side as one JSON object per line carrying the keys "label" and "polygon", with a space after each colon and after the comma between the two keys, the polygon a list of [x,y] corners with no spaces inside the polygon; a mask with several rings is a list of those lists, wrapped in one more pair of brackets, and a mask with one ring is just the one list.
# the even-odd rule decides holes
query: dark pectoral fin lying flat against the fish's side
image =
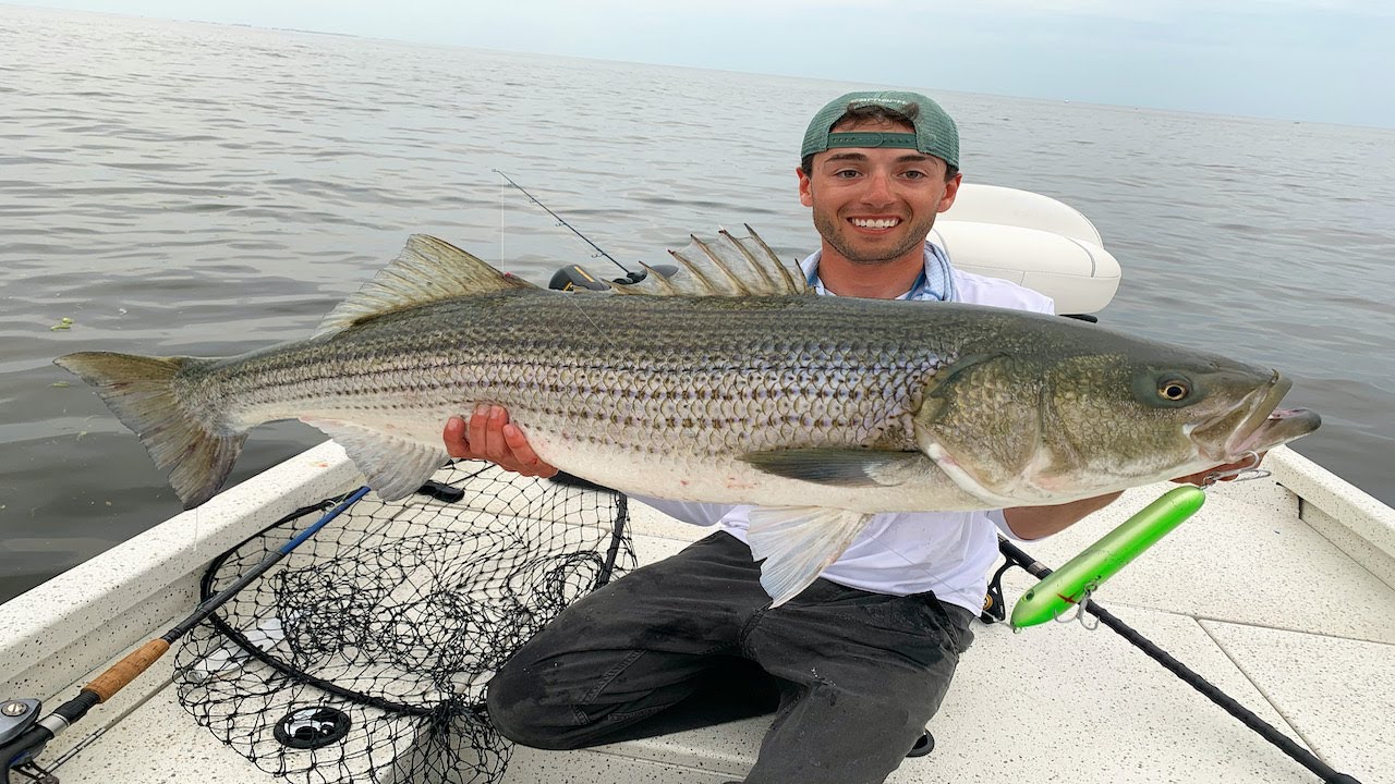
{"label": "dark pectoral fin lying flat against the fish's side", "polygon": [[831,487],[894,487],[935,472],[923,452],[771,449],[741,458],[767,474]]}

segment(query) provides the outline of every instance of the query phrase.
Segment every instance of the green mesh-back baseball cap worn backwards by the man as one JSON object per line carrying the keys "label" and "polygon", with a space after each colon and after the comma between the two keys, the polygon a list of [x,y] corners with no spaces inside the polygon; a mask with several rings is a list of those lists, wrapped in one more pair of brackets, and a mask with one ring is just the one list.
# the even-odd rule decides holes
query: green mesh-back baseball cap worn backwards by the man
{"label": "green mesh-back baseball cap worn backwards by the man", "polygon": [[[914,134],[879,131],[829,133],[851,110],[879,106],[904,116],[915,128]],[[834,98],[809,121],[804,134],[799,158],[834,146],[894,146],[917,149],[958,167],[958,127],[954,120],[929,98],[907,91],[850,92]]]}

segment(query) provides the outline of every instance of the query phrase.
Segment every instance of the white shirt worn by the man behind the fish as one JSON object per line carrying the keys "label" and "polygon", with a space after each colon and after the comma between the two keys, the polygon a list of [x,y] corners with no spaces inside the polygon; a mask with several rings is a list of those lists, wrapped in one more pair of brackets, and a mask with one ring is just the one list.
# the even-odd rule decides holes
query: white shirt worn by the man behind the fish
{"label": "white shirt worn by the man behind the fish", "polygon": [[[943,258],[943,251],[928,244],[928,265],[939,261],[932,258],[933,255]],[[808,275],[815,275],[817,254],[806,258],[801,266]],[[1017,283],[958,269],[951,269],[950,276],[957,301],[1055,312],[1050,297]],[[822,286],[817,289],[822,292]],[[936,297],[918,283],[903,299]],[[636,501],[693,525],[716,525],[746,541],[751,506],[657,498],[636,498]],[[983,608],[988,571],[997,558],[997,530],[1013,536],[1002,511],[875,515],[848,550],[819,576],[838,585],[894,596],[935,591],[940,601],[957,604],[976,615]]]}

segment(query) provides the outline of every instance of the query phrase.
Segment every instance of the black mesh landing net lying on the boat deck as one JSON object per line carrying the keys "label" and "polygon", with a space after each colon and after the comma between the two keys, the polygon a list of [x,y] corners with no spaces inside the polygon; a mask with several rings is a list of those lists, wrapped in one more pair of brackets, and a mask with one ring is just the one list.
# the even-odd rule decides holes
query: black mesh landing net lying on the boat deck
{"label": "black mesh landing net lying on the boat deck", "polygon": [[[509,744],[492,672],[578,597],[635,566],[625,498],[462,462],[435,497],[350,506],[183,638],[181,704],[278,777],[485,784]],[[460,495],[459,499],[451,499]],[[216,594],[340,498],[209,566]]]}

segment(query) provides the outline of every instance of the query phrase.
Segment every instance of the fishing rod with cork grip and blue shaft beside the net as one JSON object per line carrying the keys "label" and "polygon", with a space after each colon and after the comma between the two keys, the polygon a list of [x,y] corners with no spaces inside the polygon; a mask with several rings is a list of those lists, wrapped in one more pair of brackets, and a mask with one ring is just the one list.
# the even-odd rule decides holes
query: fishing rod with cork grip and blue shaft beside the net
{"label": "fishing rod with cork grip and blue shaft beside the net", "polygon": [[[262,576],[268,569],[290,554],[292,550],[296,550],[301,543],[315,536],[315,533],[325,527],[329,520],[338,518],[345,512],[345,509],[353,506],[367,494],[367,487],[360,487],[352,492],[347,498],[339,502],[338,506],[325,512],[324,516],[315,520],[310,527],[296,534],[294,538],[248,569],[241,578],[237,578],[236,582],[218,591],[218,594],[199,603],[188,618],[180,621],[174,628],[165,632],[165,635],[149,640],[127,654],[126,658],[112,665],[106,672],[93,678],[88,685],[82,686],[78,696],[60,704],[43,718],[39,718],[42,703],[36,699],[6,700],[0,704],[0,764],[4,766],[3,774],[6,784],[20,784],[25,778],[33,783],[56,783],[57,777],[35,762],[35,757],[39,756],[45,746],[47,746],[49,741],[59,737],[63,731],[86,716],[93,706],[112,699],[112,696],[126,688],[141,672],[149,670],[156,660],[165,656],[165,651],[170,649],[170,644],[188,633],[194,626],[204,622],[209,615],[216,612],[219,607],[226,604],[227,600],[233,598],[233,596],[251,585],[252,580]],[[324,506],[321,505],[321,508]],[[310,509],[314,509],[314,506]],[[17,780],[14,773],[24,776],[25,778]]]}

